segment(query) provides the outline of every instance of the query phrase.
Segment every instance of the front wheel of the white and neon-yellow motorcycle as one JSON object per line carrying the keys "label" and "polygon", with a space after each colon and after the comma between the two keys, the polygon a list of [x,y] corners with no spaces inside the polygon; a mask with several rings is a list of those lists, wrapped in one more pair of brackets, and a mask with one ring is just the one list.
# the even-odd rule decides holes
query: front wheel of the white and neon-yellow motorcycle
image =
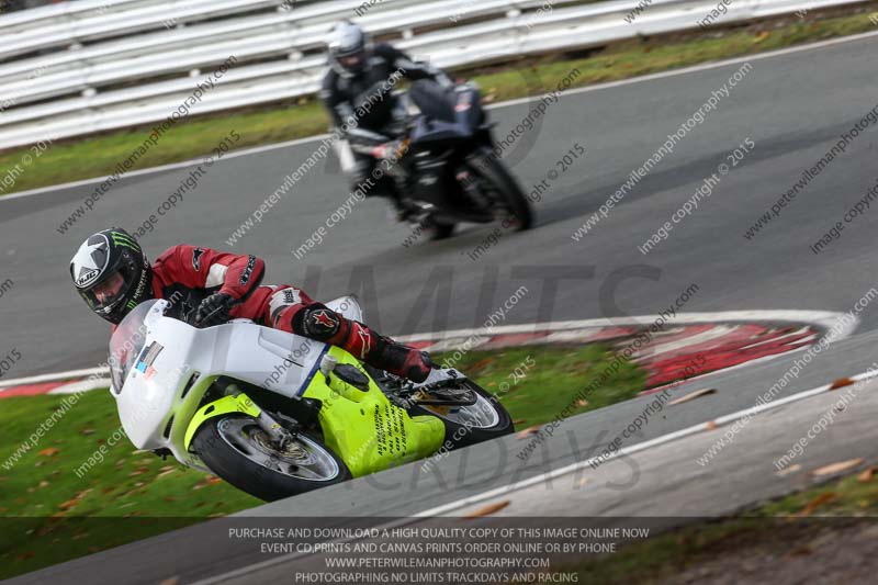
{"label": "front wheel of the white and neon-yellow motorcycle", "polygon": [[345,462],[316,439],[300,434],[281,451],[247,415],[211,418],[192,443],[213,473],[266,502],[350,480]]}

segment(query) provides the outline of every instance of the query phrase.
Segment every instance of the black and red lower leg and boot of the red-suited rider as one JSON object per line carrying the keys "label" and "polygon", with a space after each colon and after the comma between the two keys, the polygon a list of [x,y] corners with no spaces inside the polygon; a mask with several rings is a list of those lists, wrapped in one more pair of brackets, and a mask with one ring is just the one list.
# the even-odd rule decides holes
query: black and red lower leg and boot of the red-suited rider
{"label": "black and red lower leg and boot of the red-suited rider", "polygon": [[293,331],[338,346],[369,365],[416,383],[427,380],[434,368],[426,352],[378,335],[319,303],[299,312],[293,318]]}

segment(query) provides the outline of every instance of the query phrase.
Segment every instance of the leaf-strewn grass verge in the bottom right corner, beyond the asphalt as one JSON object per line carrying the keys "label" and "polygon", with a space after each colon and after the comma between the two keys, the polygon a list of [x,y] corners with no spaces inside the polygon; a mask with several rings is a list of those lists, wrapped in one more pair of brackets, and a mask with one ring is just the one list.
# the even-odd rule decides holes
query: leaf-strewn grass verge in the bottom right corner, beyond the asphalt
{"label": "leaf-strewn grass verge in the bottom right corner, beyond the asphalt", "polygon": [[878,517],[878,475],[870,481],[860,481],[858,475],[768,502],[733,518],[673,530],[559,571],[577,572],[579,583],[653,583],[740,549],[744,549],[741,558],[748,555],[751,547],[783,555],[795,549],[797,541],[807,542],[830,526],[823,518],[799,518]]}

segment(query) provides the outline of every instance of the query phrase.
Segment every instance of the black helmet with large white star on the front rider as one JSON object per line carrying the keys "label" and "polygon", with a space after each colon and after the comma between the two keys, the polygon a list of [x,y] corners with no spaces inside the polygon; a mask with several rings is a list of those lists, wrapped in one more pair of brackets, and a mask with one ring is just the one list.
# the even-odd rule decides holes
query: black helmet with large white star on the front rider
{"label": "black helmet with large white star on the front rider", "polygon": [[140,245],[124,229],[98,232],[70,260],[70,277],[91,310],[119,324],[153,296],[153,270]]}

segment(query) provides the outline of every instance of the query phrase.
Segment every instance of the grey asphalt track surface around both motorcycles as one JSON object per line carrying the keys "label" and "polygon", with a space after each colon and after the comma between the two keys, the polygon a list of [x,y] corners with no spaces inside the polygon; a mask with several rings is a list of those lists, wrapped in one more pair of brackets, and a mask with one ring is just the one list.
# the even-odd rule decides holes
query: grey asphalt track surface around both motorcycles
{"label": "grey asphalt track surface around both motorcycles", "polygon": [[[878,94],[876,44],[878,38],[866,37],[752,59],[752,70],[729,98],[721,101],[718,111],[711,112],[679,142],[673,155],[581,243],[574,243],[571,234],[586,216],[664,143],[667,134],[675,132],[712,91],[725,83],[741,63],[562,98],[550,110],[541,131],[532,135],[536,142],[527,156],[515,165],[515,171],[522,183],[530,185],[542,180],[574,143],[584,145],[587,156],[543,195],[543,201],[537,205],[539,222],[533,230],[502,238],[479,261],[466,258],[466,252],[477,246],[491,228],[468,228],[449,241],[404,248],[401,243],[408,235],[407,228],[389,225],[382,205],[371,201],[358,206],[352,217],[330,230],[325,243],[303,261],[296,261],[291,249],[299,247],[344,201],[341,178],[322,172],[306,177],[294,198],[280,204],[235,249],[266,258],[269,263],[266,282],[302,283],[319,297],[349,292],[354,270],[370,268],[375,274],[373,293],[370,294],[368,288],[353,292],[364,297],[367,320],[375,322],[378,317],[381,328],[389,334],[480,324],[521,284],[529,285],[533,294],[510,312],[508,323],[657,313],[693,282],[700,290],[686,304],[685,311],[849,311],[878,281],[869,246],[878,220],[867,212],[820,255],[812,254],[809,245],[841,221],[875,183],[874,126],[860,134],[842,157],[784,210],[779,220],[768,224],[751,241],[745,240],[743,234],[842,133],[848,132],[875,106]],[[527,110],[527,104],[495,110],[495,119],[500,122],[498,134],[518,123]],[[246,128],[237,130],[246,132]],[[637,246],[667,221],[724,161],[725,155],[745,138],[755,143],[753,153],[722,179],[712,196],[702,202],[691,217],[675,227],[666,241],[649,256],[642,256]],[[179,241],[226,247],[224,240],[230,233],[313,148],[313,144],[304,144],[219,161],[189,201],[145,238],[146,246],[154,256],[165,246]],[[8,250],[10,260],[4,262],[3,272],[16,282],[15,289],[0,300],[0,314],[4,342],[18,347],[24,357],[16,369],[20,375],[88,367],[101,361],[106,328],[94,323],[70,291],[66,261],[81,238],[108,223],[134,227],[138,218],[153,213],[185,176],[184,169],[178,169],[125,180],[92,214],[77,224],[71,235],[65,236],[54,229],[86,196],[87,188],[0,201],[3,211],[0,250]],[[652,272],[645,272],[644,266]],[[539,281],[521,278],[528,271],[531,274],[538,271],[536,273],[544,277],[550,268],[555,273],[571,275],[583,267],[586,271],[582,275],[588,275],[587,270],[594,273],[590,278],[563,281],[551,313],[548,297],[542,295],[541,299],[539,293]],[[452,311],[441,307],[434,311],[434,305],[424,311],[418,297],[425,289],[431,290],[425,286],[431,273],[447,277],[434,272],[443,268],[453,271],[450,281]],[[637,270],[640,272],[632,272]],[[317,271],[319,278],[315,278]],[[612,286],[611,274],[619,274],[619,271],[641,277]],[[494,280],[493,273],[496,273]],[[481,294],[485,274],[488,281],[497,284],[493,297]],[[448,279],[438,282],[448,282]],[[869,368],[876,359],[874,347],[878,334],[874,329],[878,312],[869,306],[859,316],[857,335],[821,353],[781,395],[806,391]],[[752,406],[757,395],[783,376],[792,359],[786,357],[720,373],[678,389],[675,393],[683,394],[710,385],[718,392],[667,409],[666,418],[653,419],[642,439]],[[871,394],[868,391],[867,387],[863,394],[862,410],[854,408],[845,425],[833,426],[832,435],[815,441],[807,459],[802,459],[803,465],[848,455],[874,460],[871,448],[876,430],[867,421],[870,416],[874,418],[875,400],[874,391]],[[714,463],[700,468],[694,459],[701,453],[699,449],[707,447],[702,439],[678,441],[633,455],[641,463],[642,472],[632,491],[614,497],[585,498],[577,503],[576,513],[713,516],[800,486],[804,481],[801,476],[792,474],[779,479],[770,473],[770,464],[783,447],[791,443],[820,416],[825,409],[820,401],[825,400],[811,398],[761,415],[761,418],[773,417],[786,430],[777,437],[777,442],[768,441],[767,438],[774,436],[774,425],[754,423],[748,445],[772,446],[763,448],[758,461],[754,460],[753,449],[729,449]],[[272,504],[254,513],[323,517],[417,514],[582,460],[597,449],[600,441],[610,440],[630,424],[642,412],[643,401],[646,398],[570,420],[561,427],[560,435],[545,443],[545,450],[534,453],[524,466],[516,464],[514,457],[521,442],[509,438],[452,454],[438,468],[436,473],[441,476],[420,477],[414,488],[408,466]],[[808,408],[801,407],[806,404]],[[503,459],[498,457],[499,451],[509,455],[507,465],[498,464]],[[683,466],[686,461],[688,469]],[[608,463],[598,473],[612,473],[622,464]],[[465,473],[460,473],[461,470]],[[728,481],[732,473],[736,474],[735,480]],[[464,477],[462,484],[449,485],[459,476]],[[702,482],[689,482],[689,477]],[[693,494],[698,497],[690,497]],[[519,514],[569,513],[569,508],[553,507],[558,500],[552,502],[551,497],[529,502],[529,506],[518,507],[519,504],[516,507]],[[185,551],[180,547],[169,550],[168,538],[103,553],[100,559],[89,558],[53,567],[24,577],[23,582],[37,582],[35,580],[50,575],[65,582],[77,578],[81,582],[95,566],[100,566],[108,578],[125,575],[126,583],[155,583],[156,577],[170,575],[189,582],[262,560],[236,556],[230,549],[234,544],[224,545],[222,539],[219,544],[214,541],[210,550],[205,547],[202,556],[189,547]],[[159,554],[159,551],[164,559],[161,566],[143,562],[143,571],[136,576],[132,574],[135,555],[149,556],[147,553]],[[223,560],[217,561],[218,558]],[[285,570],[280,565],[260,571]],[[268,574],[251,571],[238,582],[257,582],[255,575],[259,582],[264,582],[261,577]],[[289,573],[285,574],[289,578]]]}

